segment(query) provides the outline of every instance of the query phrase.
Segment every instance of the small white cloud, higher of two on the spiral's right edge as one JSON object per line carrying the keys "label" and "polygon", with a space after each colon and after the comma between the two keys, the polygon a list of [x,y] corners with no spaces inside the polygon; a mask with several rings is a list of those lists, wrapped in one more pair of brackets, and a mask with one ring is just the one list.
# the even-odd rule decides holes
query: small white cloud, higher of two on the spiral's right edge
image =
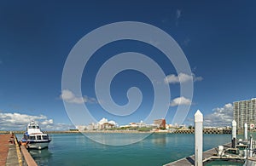
{"label": "small white cloud, higher of two on the spiral's right edge", "polygon": [[170,74],[165,77],[165,83],[186,83],[190,80],[201,81],[203,77],[196,77],[194,73],[191,75],[180,72],[177,76],[175,74]]}

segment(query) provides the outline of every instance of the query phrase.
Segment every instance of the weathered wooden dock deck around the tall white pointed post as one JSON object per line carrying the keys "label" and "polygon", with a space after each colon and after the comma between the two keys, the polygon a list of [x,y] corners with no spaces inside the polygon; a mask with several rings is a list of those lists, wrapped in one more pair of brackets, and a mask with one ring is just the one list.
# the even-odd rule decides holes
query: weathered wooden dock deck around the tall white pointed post
{"label": "weathered wooden dock deck around the tall white pointed post", "polygon": [[[231,143],[225,144],[224,149],[230,148]],[[206,162],[210,157],[212,157],[214,154],[218,153],[217,148],[212,148],[206,152],[203,152],[203,162]],[[190,157],[184,157],[182,159],[179,159],[172,163],[167,163],[164,166],[191,166],[195,165],[195,155]]]}

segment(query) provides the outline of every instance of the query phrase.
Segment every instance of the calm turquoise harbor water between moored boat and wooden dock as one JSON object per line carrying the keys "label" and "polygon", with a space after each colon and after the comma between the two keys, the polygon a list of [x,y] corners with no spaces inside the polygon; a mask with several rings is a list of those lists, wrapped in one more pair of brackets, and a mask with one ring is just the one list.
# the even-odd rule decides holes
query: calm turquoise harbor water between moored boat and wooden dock
{"label": "calm turquoise harbor water between moored boat and wooden dock", "polygon": [[[138,134],[114,135],[134,138]],[[20,140],[22,135],[17,135]],[[163,165],[194,154],[194,135],[154,134],[128,146],[106,146],[82,134],[52,134],[48,149],[31,150],[38,165]],[[204,135],[204,151],[230,142],[230,135]]]}

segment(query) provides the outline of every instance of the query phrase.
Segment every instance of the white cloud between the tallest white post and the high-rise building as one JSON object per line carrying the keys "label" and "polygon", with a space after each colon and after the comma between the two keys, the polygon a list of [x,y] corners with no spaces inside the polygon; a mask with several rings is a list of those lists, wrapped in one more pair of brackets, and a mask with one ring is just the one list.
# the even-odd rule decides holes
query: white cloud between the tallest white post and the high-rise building
{"label": "white cloud between the tallest white post and the high-rise building", "polygon": [[223,107],[212,109],[212,114],[204,117],[205,126],[230,126],[233,120],[233,105],[228,103]]}

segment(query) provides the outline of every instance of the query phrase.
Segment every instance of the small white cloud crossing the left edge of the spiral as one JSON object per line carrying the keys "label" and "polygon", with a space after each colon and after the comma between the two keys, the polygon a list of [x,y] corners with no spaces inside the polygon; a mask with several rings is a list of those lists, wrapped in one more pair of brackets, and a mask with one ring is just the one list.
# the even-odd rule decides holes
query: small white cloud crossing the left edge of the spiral
{"label": "small white cloud crossing the left edge of the spiral", "polygon": [[60,98],[61,100],[67,101],[69,103],[75,103],[75,104],[97,103],[96,99],[90,98],[86,95],[84,97],[77,97],[75,96],[75,94],[73,94],[72,91],[68,89],[62,90]]}

